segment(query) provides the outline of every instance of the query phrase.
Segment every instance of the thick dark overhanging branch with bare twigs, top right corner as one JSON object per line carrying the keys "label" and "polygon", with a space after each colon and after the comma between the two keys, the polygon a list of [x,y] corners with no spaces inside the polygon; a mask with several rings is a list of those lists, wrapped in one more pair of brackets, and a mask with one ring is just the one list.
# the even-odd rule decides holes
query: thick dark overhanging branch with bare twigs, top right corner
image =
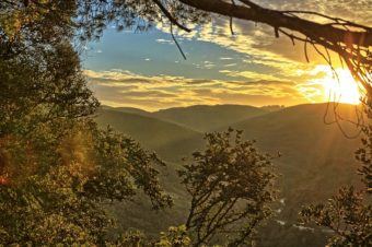
{"label": "thick dark overhanging branch with bare twigs, top right corner", "polygon": [[[251,0],[240,0],[242,4],[233,4],[223,0],[178,0],[184,4],[229,19],[240,19],[264,23],[275,28],[276,37],[286,34],[292,43],[294,39],[306,44],[321,45],[326,48],[326,61],[333,67],[328,49],[342,58],[352,77],[365,89],[367,97],[372,98],[372,28],[342,19],[332,17],[313,11],[277,11],[265,9]],[[310,14],[324,17],[328,23],[317,23],[300,17]],[[292,34],[286,31],[293,32]],[[307,56],[306,56],[307,59]],[[307,59],[309,60],[309,59]]]}

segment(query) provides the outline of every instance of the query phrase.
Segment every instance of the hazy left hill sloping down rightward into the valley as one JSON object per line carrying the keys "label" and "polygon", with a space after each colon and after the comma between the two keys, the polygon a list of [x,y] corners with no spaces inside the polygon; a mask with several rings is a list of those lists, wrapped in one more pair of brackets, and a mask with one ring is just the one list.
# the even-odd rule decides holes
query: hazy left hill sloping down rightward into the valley
{"label": "hazy left hill sloping down rightward into the valley", "polygon": [[202,146],[202,133],[138,114],[103,108],[98,110],[96,122],[101,127],[111,126],[129,136],[166,161],[181,161]]}

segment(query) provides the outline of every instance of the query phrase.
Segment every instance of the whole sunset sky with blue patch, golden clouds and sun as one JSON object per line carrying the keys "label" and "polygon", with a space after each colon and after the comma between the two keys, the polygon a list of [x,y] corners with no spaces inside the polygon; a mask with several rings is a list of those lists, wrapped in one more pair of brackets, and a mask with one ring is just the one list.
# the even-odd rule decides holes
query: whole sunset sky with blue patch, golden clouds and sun
{"label": "whole sunset sky with blue patch, golden clouds and sun", "polygon": [[[372,23],[371,0],[259,3]],[[147,110],[198,104],[289,106],[326,102],[329,92],[340,102],[358,102],[358,87],[347,71],[339,69],[342,80],[338,84],[314,50],[309,48],[307,63],[303,44],[293,46],[284,36],[275,38],[271,27],[235,20],[232,35],[228,19],[212,16],[211,23],[194,30],[176,35],[187,56],[184,60],[166,25],[141,34],[111,26],[82,55],[91,89],[104,105]],[[338,58],[334,60],[337,66]]]}

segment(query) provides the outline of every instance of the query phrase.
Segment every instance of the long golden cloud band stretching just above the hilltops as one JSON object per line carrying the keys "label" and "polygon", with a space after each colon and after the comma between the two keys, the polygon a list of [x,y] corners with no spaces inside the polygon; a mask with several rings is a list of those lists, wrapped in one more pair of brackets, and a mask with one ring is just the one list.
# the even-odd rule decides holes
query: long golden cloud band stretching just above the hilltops
{"label": "long golden cloud band stretching just above the hilltops", "polygon": [[149,110],[195,104],[299,104],[304,102],[290,81],[222,81],[182,77],[144,77],[129,71],[85,70],[97,97],[113,106]]}

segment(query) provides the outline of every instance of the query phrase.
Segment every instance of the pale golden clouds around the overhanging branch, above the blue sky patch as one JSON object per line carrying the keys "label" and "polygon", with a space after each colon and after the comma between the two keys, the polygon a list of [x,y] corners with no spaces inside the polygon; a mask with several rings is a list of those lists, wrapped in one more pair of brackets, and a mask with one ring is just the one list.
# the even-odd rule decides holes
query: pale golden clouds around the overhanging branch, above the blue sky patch
{"label": "pale golden clouds around the overhanging branch, above the blue sky patch", "polygon": [[[354,0],[354,1],[324,1],[324,0],[278,0],[278,1],[260,1],[263,7],[276,9],[276,10],[313,10],[314,5],[317,8],[317,12],[329,15],[337,13],[338,17],[356,21],[362,24],[372,24],[372,9],[365,8],[369,5],[369,1]],[[324,21],[319,16],[303,15],[306,19],[317,19],[316,21]],[[266,66],[275,78],[304,80],[295,73],[298,70],[312,71],[318,64],[325,64],[326,62],[322,57],[317,56],[312,47],[309,47],[309,56],[311,62],[305,61],[303,44],[297,43],[294,46],[292,42],[286,37],[275,37],[274,30],[265,24],[256,24],[253,22],[233,20],[233,28],[235,35],[231,34],[230,20],[228,17],[212,15],[212,21],[202,26],[193,26],[191,33],[183,31],[176,31],[176,34],[188,38],[189,40],[201,40],[211,44],[217,44],[221,47],[234,50],[244,58],[244,62],[247,64]],[[168,33],[168,27],[159,24],[158,28]],[[233,60],[234,57],[220,57],[219,60]],[[334,66],[337,66],[338,57],[335,56]],[[241,62],[241,61],[239,61]],[[235,61],[234,61],[235,63]],[[230,62],[229,64],[233,64]],[[224,67],[229,67],[225,64]],[[252,71],[252,70],[249,70]],[[254,71],[261,73],[264,78],[267,78],[267,72]],[[244,78],[256,78],[256,75],[246,71],[239,71],[235,75],[242,75]],[[274,78],[271,78],[274,79]]]}

